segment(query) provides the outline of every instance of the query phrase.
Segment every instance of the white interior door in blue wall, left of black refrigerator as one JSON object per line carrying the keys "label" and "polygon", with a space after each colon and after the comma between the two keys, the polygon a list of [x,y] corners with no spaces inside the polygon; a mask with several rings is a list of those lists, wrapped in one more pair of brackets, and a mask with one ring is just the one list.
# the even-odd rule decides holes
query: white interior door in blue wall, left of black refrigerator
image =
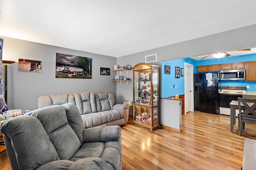
{"label": "white interior door in blue wall, left of black refrigerator", "polygon": [[185,81],[185,115],[189,111],[194,111],[194,66],[184,63]]}

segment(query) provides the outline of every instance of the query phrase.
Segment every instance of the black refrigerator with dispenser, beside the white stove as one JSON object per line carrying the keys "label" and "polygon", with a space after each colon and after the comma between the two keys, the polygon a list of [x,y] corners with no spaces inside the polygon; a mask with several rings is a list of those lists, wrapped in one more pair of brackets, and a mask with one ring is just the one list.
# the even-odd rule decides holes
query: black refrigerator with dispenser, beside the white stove
{"label": "black refrigerator with dispenser, beside the white stove", "polygon": [[194,111],[220,114],[218,72],[194,73]]}

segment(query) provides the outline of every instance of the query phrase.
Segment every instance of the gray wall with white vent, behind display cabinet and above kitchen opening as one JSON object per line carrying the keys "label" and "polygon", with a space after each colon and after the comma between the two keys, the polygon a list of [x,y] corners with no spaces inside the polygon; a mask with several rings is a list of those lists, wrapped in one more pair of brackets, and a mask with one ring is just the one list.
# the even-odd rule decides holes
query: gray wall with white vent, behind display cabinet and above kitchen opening
{"label": "gray wall with white vent, behind display cabinet and above kitchen opening", "polygon": [[[199,28],[200,29],[200,28]],[[233,51],[256,47],[256,24],[247,27],[241,27],[222,33],[217,33],[181,43],[176,43],[156,49],[150,49],[140,53],[126,55],[117,58],[117,64],[132,64],[145,62],[146,55],[157,54],[157,62],[149,63],[160,66],[161,61],[169,59],[187,58],[197,55],[206,55],[222,51]],[[136,43],[136,42],[135,42]],[[128,74],[132,78],[132,72]],[[159,74],[160,93],[161,94],[161,72]],[[117,102],[122,100],[132,100],[132,82],[126,84],[117,84],[116,86]],[[160,96],[161,97],[161,96]]]}

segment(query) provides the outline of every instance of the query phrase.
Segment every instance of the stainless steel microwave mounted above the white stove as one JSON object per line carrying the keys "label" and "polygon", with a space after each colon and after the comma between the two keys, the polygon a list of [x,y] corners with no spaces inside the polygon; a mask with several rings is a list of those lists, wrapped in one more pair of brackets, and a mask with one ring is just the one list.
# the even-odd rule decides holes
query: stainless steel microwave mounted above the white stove
{"label": "stainless steel microwave mounted above the white stove", "polygon": [[220,71],[220,80],[245,80],[245,70]]}

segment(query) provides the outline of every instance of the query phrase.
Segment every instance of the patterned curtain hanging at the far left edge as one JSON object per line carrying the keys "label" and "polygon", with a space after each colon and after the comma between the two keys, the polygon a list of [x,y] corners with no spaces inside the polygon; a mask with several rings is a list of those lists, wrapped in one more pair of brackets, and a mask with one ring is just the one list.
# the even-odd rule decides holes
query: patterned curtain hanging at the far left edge
{"label": "patterned curtain hanging at the far left edge", "polygon": [[3,61],[2,61],[3,43],[4,43],[4,40],[0,38],[0,114],[3,114],[5,111],[8,110],[6,102],[4,100]]}

